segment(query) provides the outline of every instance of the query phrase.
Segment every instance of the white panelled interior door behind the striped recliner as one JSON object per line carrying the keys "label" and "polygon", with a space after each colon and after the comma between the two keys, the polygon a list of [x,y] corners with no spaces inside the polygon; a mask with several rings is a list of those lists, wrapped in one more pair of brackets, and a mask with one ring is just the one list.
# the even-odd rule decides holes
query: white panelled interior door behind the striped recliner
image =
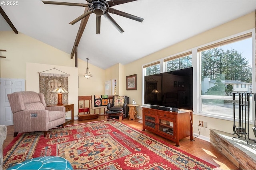
{"label": "white panelled interior door behind the striped recliner", "polygon": [[25,79],[0,78],[0,124],[13,125],[7,94],[25,91]]}

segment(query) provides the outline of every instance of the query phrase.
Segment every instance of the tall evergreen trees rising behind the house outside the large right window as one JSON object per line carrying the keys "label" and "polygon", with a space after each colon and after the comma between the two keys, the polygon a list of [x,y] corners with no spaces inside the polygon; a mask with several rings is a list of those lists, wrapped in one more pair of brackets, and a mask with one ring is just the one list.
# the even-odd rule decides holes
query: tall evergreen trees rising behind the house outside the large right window
{"label": "tall evergreen trees rising behind the house outside the large right window", "polygon": [[202,78],[216,79],[224,74],[221,80],[236,80],[252,83],[252,67],[241,53],[231,49],[223,51],[222,48],[209,49],[202,54]]}

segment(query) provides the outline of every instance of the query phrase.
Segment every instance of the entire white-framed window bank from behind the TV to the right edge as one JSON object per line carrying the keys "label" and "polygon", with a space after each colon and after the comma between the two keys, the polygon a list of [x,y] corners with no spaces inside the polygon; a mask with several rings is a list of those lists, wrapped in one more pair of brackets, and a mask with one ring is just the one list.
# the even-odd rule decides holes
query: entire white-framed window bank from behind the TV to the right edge
{"label": "entire white-framed window bank from behind the TV to the right edge", "polygon": [[[254,30],[252,30],[254,31]],[[252,68],[255,66],[252,38],[249,32],[220,41],[202,48],[194,47],[189,52],[174,55],[167,59],[143,66],[143,76],[194,67],[193,110],[195,114],[219,119],[233,120],[233,93],[235,94],[236,113],[238,113],[238,93],[245,97],[251,93],[255,82]],[[198,81],[197,81],[198,80]],[[144,88],[144,80],[143,80]],[[174,84],[175,86],[175,84]],[[178,86],[178,84],[177,84]],[[198,88],[199,87],[199,88]],[[255,88],[254,88],[255,89]],[[144,89],[142,98],[144,98]],[[199,98],[198,98],[199,96]],[[250,95],[250,121],[254,118],[254,100]],[[245,102],[245,101],[244,101]],[[144,100],[142,101],[144,104]],[[253,106],[252,106],[253,105]],[[238,117],[238,115],[237,115]]]}

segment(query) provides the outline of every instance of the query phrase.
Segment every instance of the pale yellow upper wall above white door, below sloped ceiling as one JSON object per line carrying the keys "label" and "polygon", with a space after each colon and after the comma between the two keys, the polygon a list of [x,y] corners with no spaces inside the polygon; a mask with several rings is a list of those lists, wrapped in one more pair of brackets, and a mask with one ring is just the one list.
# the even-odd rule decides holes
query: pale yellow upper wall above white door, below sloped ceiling
{"label": "pale yellow upper wall above white door, below sloped ceiling", "polygon": [[[0,31],[1,49],[5,49],[0,63],[1,78],[26,78],[26,63],[74,66],[74,59],[50,45],[13,31]],[[61,62],[60,62],[61,61]]]}

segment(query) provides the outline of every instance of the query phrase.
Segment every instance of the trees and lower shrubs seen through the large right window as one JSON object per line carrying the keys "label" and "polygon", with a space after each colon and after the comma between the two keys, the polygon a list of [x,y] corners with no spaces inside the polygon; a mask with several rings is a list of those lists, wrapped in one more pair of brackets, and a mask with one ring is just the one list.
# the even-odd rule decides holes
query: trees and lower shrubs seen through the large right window
{"label": "trees and lower shrubs seen through the large right window", "polygon": [[[202,51],[201,62],[202,80],[215,80],[214,86],[208,88],[204,95],[231,96],[234,83],[241,84],[241,87],[245,86],[242,83],[252,83],[252,66],[248,59],[235,49],[224,51],[218,47]],[[229,81],[229,84],[228,80],[234,81]]]}

